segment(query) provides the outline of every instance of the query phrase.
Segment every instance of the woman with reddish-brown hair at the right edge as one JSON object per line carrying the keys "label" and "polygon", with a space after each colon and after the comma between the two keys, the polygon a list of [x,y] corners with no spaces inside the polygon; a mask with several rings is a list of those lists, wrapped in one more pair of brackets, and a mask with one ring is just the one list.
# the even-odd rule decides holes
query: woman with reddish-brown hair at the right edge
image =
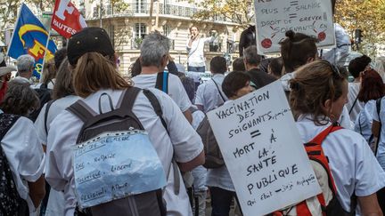
{"label": "woman with reddish-brown hair at the right edge", "polygon": [[382,83],[381,76],[373,69],[365,70],[361,73],[361,86],[357,95],[359,102],[364,102],[365,106],[356,117],[355,132],[360,133],[369,146],[375,149],[375,140],[372,133],[373,112],[376,109],[376,100],[385,95],[385,84]]}

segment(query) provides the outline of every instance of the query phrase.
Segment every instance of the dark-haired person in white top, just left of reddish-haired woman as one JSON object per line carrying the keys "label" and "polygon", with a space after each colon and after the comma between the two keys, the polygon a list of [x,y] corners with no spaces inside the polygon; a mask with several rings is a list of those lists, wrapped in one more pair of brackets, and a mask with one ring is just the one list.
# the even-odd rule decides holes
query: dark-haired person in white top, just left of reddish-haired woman
{"label": "dark-haired person in white top, just left of reddish-haired woman", "polygon": [[361,73],[370,68],[371,61],[370,57],[363,55],[351,60],[348,64],[348,71],[355,78],[352,83],[348,83],[348,103],[346,105],[350,119],[353,121],[356,120],[361,109],[365,107],[365,103],[357,100],[357,95],[361,86]]}

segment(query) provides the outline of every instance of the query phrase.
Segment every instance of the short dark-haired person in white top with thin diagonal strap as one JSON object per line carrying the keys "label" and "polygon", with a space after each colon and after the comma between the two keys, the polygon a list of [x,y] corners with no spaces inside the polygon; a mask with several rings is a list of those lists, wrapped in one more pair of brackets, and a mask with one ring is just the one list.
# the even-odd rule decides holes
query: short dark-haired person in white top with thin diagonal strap
{"label": "short dark-haired person in white top with thin diagonal strap", "polygon": [[227,100],[224,92],[222,92],[222,83],[227,71],[225,58],[222,56],[212,58],[210,71],[212,74],[211,79],[198,86],[195,98],[195,105],[204,113],[217,108]]}

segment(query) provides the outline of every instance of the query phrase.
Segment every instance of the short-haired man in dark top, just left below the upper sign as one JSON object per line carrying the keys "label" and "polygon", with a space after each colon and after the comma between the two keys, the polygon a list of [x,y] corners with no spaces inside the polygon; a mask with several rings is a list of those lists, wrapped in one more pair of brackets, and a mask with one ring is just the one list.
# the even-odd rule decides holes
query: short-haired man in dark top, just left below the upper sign
{"label": "short-haired man in dark top, just left below the upper sign", "polygon": [[261,60],[262,56],[258,55],[256,45],[251,45],[243,51],[243,63],[246,73],[251,77],[250,85],[256,90],[276,80],[274,76],[268,75],[259,69]]}

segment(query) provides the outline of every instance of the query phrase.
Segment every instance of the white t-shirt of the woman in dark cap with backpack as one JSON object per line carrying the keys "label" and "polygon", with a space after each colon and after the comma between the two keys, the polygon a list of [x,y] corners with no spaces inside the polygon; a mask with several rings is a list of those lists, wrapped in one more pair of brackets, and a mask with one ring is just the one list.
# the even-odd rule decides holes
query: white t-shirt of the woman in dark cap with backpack
{"label": "white t-shirt of the woman in dark cap with backpack", "polygon": [[[167,202],[168,215],[191,216],[192,211],[184,184],[180,184],[178,196],[174,193],[174,175],[170,164],[173,156],[179,163],[190,162],[199,156],[203,150],[201,137],[193,130],[176,103],[167,94],[154,88],[150,90],[160,102],[163,118],[168,125],[169,136],[160,122],[160,117],[153,111],[150,101],[143,92],[138,94],[133,112],[149,133],[150,140],[158,156],[160,156],[165,172],[168,173],[169,167],[171,169],[168,176],[168,186],[163,196]],[[99,113],[98,100],[103,92],[111,96],[115,107],[122,93],[122,91],[101,90],[89,95],[84,101],[90,108],[94,109],[95,113]],[[106,97],[102,99],[102,110],[109,110],[109,101],[104,100]],[[82,125],[83,123],[77,116],[64,110],[54,119],[48,134],[48,143],[52,146],[48,145],[47,147],[45,180],[49,182],[52,188],[64,190],[66,216],[73,216],[76,205],[71,149],[76,144],[78,132]],[[180,175],[180,182],[183,182],[182,175]]]}

